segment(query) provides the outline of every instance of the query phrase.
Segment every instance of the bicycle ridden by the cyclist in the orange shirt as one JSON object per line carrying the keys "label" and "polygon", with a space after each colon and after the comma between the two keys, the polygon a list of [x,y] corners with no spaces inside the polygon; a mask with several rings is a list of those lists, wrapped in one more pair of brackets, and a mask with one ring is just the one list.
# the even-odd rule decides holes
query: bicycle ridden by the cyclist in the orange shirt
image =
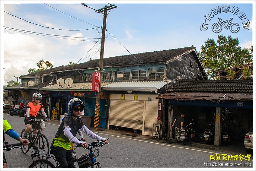
{"label": "bicycle ridden by the cyclist in the orange shirt", "polygon": [[[45,128],[44,121],[47,122],[48,119],[31,119],[30,124],[32,124],[32,122],[36,122],[37,124],[36,124],[35,130],[31,128],[30,132],[28,133],[28,142],[29,142],[28,145],[25,146],[22,144],[20,146],[21,151],[23,153],[27,153],[30,150],[30,148],[33,147],[34,150],[37,150],[41,153],[47,152],[47,154],[49,154],[50,147],[49,147],[48,139],[44,134],[42,134]],[[21,131],[21,135],[20,135],[21,137],[24,136],[25,130],[26,129],[23,129]],[[36,130],[38,130],[37,134],[34,133],[34,135],[32,136],[32,133]],[[40,159],[40,156],[38,156],[38,159]]]}

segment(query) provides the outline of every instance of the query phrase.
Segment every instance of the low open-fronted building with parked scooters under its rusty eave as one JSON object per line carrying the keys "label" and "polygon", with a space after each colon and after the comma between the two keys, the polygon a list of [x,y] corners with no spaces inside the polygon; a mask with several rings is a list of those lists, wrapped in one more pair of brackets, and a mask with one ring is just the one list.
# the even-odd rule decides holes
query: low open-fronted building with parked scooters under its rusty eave
{"label": "low open-fronted building with parked scooters under its rusty eave", "polygon": [[174,138],[172,122],[185,113],[185,124],[196,120],[197,141],[208,123],[214,123],[215,142],[220,146],[222,125],[228,124],[231,139],[243,140],[253,126],[253,79],[239,80],[193,80],[179,79],[169,84],[169,90],[157,99],[162,99],[161,117],[165,118],[168,138]]}

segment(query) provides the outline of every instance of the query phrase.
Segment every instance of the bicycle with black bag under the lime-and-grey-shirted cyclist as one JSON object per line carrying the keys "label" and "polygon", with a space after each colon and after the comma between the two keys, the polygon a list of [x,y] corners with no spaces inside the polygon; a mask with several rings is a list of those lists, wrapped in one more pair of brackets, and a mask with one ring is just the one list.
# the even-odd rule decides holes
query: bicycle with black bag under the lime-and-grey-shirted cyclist
{"label": "bicycle with black bag under the lime-and-grey-shirted cyclist", "polygon": [[[109,139],[109,138],[107,138]],[[108,143],[107,143],[108,144]],[[99,148],[105,145],[103,141],[94,141],[91,144],[88,143],[88,147],[86,149],[90,150],[90,153],[81,155],[79,158],[75,158],[73,160],[68,161],[68,164],[71,162],[77,162],[79,168],[101,168],[100,162],[96,162],[96,158],[100,155]],[[74,149],[77,147],[82,147],[81,144],[78,144]],[[95,155],[95,150],[97,151]],[[41,159],[34,160],[34,157],[40,156]],[[33,163],[28,168],[58,168],[59,163],[54,157],[54,155],[49,155],[45,153],[40,153],[36,150],[31,152],[31,157]],[[43,159],[46,158],[46,159]],[[54,159],[55,165],[49,161],[48,159]]]}

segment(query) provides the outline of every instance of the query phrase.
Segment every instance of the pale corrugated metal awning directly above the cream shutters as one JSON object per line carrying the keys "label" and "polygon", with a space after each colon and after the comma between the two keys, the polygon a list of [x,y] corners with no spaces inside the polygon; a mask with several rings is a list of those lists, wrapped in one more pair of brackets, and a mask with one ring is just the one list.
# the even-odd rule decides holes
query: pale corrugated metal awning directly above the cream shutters
{"label": "pale corrugated metal awning directly above the cream shutters", "polygon": [[107,91],[157,91],[165,85],[166,81],[127,81],[113,82],[101,86],[101,89]]}

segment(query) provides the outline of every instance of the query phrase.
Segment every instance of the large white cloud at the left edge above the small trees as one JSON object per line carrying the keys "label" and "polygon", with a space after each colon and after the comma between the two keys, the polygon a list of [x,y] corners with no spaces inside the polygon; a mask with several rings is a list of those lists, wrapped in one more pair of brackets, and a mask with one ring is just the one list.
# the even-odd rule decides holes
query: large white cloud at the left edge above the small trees
{"label": "large white cloud at the left edge above the small trees", "polygon": [[5,32],[3,42],[4,83],[12,76],[28,74],[28,69],[36,68],[36,63],[45,59],[44,44],[31,36]]}

